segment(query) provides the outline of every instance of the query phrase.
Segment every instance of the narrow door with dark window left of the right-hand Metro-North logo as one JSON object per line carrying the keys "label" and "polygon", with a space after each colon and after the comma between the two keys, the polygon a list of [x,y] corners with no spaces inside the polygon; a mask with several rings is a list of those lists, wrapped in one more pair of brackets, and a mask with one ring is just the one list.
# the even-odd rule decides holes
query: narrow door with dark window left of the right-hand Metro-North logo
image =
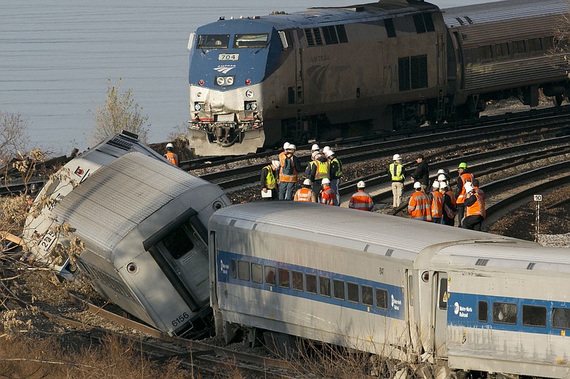
{"label": "narrow door with dark window left of the right-hand Metro-North logo", "polygon": [[432,282],[432,285],[435,286],[435,291],[432,292],[435,297],[433,341],[435,356],[442,357],[447,356],[447,272],[434,272],[433,278],[435,279]]}

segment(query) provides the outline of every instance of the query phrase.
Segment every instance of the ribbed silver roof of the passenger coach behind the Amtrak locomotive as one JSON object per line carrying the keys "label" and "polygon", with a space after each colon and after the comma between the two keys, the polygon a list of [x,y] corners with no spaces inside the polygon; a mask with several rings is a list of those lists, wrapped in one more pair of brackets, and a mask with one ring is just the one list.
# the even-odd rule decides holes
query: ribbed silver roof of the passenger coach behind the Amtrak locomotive
{"label": "ribbed silver roof of the passenger coach behind the Amtrak locomotive", "polygon": [[568,0],[506,0],[442,9],[448,27],[507,22],[516,18],[563,14],[569,10]]}

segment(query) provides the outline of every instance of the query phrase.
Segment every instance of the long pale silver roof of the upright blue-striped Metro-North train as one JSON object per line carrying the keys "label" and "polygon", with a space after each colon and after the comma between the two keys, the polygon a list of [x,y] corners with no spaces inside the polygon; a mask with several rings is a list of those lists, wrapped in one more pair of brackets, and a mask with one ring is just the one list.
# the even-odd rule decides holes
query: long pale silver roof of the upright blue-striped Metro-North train
{"label": "long pale silver roof of the upright blue-striped Metro-North train", "polygon": [[[234,228],[266,231],[286,237],[299,233],[309,242],[351,245],[355,250],[381,255],[387,255],[385,248],[378,250],[368,247],[388,246],[393,250],[391,257],[410,260],[414,260],[425,248],[447,244],[448,247],[440,245],[441,250],[437,248],[437,255],[447,265],[453,262],[465,265],[465,259],[470,258],[471,265],[475,260],[482,260],[480,266],[487,265],[484,262],[487,259],[491,261],[489,266],[529,269],[529,262],[544,262],[541,268],[560,271],[568,269],[570,264],[570,249],[541,247],[534,242],[474,230],[312,203],[261,201],[232,205],[214,213],[210,219],[211,226],[212,223],[232,223]],[[306,234],[307,231],[309,234]],[[462,244],[462,241],[472,243]],[[494,247],[489,247],[489,244]],[[507,264],[508,261],[517,261],[517,264]],[[566,267],[555,268],[551,267],[552,264]]]}

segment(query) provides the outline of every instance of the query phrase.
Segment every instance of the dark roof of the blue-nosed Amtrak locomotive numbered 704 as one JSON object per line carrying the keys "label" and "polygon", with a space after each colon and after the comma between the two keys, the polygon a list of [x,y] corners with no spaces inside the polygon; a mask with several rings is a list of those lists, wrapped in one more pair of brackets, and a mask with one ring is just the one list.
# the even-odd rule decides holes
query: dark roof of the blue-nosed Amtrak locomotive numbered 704
{"label": "dark roof of the blue-nosed Amtrak locomotive numbered 704", "polygon": [[[322,23],[342,23],[343,21],[354,21],[356,19],[382,19],[391,18],[397,14],[414,14],[419,11],[437,11],[437,6],[424,1],[378,1],[376,3],[309,8],[306,11],[294,12],[291,14],[270,14],[267,16],[251,16],[244,18],[228,19],[209,23],[207,26],[215,27],[217,23],[243,22],[251,20],[258,23],[267,23],[278,30],[288,28],[299,28]],[[204,26],[202,26],[204,28]]]}

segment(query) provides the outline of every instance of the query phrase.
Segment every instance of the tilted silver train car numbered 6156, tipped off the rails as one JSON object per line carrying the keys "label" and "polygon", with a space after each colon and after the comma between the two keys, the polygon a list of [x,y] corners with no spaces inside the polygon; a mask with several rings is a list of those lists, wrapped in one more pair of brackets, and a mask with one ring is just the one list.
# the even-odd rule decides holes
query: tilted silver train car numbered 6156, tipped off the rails
{"label": "tilted silver train car numbered 6156, tipped off the rails", "polygon": [[221,188],[134,151],[57,197],[38,218],[68,223],[71,235],[46,239],[44,231],[36,238],[41,252],[79,237],[85,250],[77,265],[105,299],[170,335],[208,326],[205,225],[230,203]]}

